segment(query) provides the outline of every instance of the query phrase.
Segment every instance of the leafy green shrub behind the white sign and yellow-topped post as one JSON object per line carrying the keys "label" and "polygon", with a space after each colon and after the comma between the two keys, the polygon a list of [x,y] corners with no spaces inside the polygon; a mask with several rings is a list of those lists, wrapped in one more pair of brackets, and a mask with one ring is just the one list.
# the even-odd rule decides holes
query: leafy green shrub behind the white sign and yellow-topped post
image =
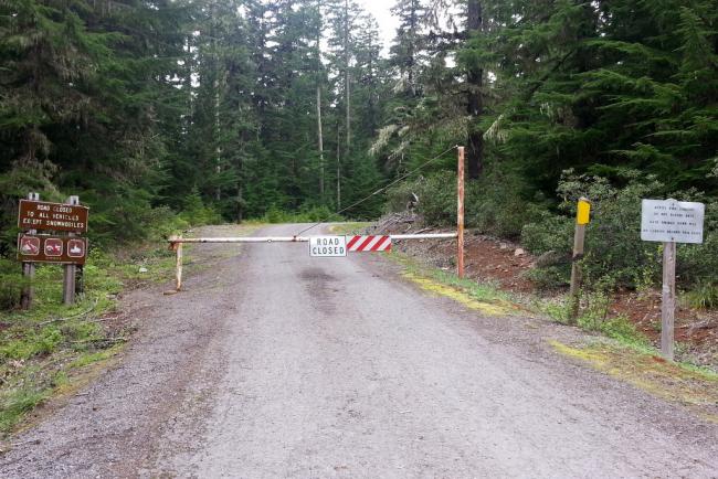
{"label": "leafy green shrub behind the white sign and yellow-topped post", "polygon": [[[581,260],[584,284],[589,288],[641,288],[661,283],[662,245],[641,240],[641,200],[665,198],[663,185],[637,171],[624,170],[615,179],[619,188],[602,177],[576,175],[567,171],[558,192],[563,199],[560,212],[543,213],[539,221],[524,226],[521,242],[534,254],[572,251],[576,203],[580,196],[591,200],[591,223],[587,227],[585,256]],[[684,288],[700,281],[716,283],[718,272],[718,205],[695,192],[668,196],[707,204],[705,243],[679,245],[677,280]],[[551,286],[568,280],[569,268],[555,265],[538,267],[530,277],[538,285]]]}

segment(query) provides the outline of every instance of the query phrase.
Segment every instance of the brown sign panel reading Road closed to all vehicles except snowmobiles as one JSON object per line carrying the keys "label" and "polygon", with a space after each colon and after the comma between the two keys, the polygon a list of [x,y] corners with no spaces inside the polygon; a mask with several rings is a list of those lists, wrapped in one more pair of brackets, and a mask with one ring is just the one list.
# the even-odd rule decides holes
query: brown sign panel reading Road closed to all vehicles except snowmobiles
{"label": "brown sign panel reading Road closed to all vehicles except snowmobiles", "polygon": [[86,233],[88,211],[87,206],[20,200],[18,226],[23,231]]}

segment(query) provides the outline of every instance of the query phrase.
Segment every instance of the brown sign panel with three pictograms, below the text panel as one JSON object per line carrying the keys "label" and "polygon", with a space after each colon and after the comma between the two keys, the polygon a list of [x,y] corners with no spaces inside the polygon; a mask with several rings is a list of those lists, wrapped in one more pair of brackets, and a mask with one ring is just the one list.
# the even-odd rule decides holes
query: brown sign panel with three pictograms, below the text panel
{"label": "brown sign panel with three pictograms, below the text panel", "polygon": [[84,265],[87,240],[71,236],[18,235],[18,259],[27,263]]}

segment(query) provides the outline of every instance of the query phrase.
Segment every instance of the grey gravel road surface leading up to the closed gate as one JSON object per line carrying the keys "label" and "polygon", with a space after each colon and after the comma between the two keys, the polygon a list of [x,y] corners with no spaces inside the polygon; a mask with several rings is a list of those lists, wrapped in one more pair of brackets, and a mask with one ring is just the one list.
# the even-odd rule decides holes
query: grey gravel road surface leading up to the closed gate
{"label": "grey gravel road surface leading up to the closed gate", "polygon": [[573,329],[482,317],[379,256],[237,252],[198,246],[187,291],[127,297],[122,362],[0,476],[718,477],[718,426],[547,345]]}

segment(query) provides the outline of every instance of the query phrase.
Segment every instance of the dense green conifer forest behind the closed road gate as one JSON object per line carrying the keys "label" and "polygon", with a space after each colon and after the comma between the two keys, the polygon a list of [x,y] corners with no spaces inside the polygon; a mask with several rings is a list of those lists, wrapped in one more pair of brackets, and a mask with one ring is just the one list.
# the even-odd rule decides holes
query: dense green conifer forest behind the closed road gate
{"label": "dense green conifer forest behind the closed road gate", "polygon": [[[397,0],[391,12],[384,44],[352,0],[0,1],[0,253],[14,255],[29,191],[80,195],[95,244],[122,244],[182,214],[320,220],[463,145],[469,226],[540,254],[566,243],[581,194],[596,212],[704,201],[712,246],[683,264],[710,276],[715,0]],[[413,193],[451,224],[455,161],[344,217]],[[611,217],[596,241],[635,286],[635,219]]]}

